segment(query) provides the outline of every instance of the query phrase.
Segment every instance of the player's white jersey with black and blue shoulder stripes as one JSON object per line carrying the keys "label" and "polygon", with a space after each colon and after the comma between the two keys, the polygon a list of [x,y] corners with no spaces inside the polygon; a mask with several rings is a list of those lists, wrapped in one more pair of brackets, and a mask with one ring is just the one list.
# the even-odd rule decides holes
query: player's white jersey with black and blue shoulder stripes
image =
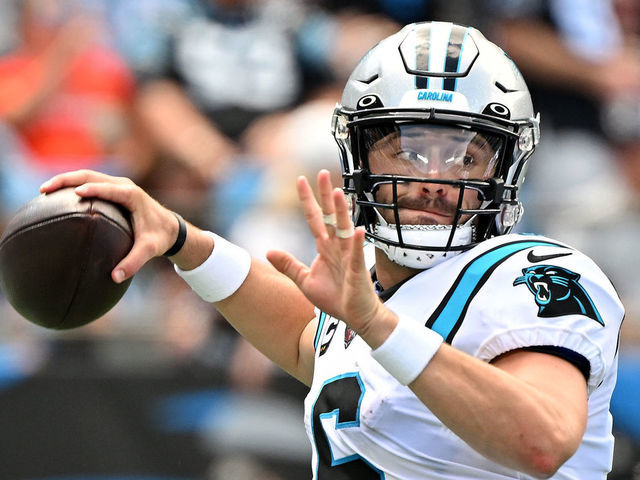
{"label": "player's white jersey with black and blue shoulder stripes", "polygon": [[[385,304],[487,362],[541,347],[582,363],[586,433],[553,478],[606,478],[613,455],[609,400],[624,310],[589,258],[544,237],[496,237],[420,272]],[[344,322],[321,312],[318,320],[305,400],[314,479],[530,478],[471,449],[391,377]]]}

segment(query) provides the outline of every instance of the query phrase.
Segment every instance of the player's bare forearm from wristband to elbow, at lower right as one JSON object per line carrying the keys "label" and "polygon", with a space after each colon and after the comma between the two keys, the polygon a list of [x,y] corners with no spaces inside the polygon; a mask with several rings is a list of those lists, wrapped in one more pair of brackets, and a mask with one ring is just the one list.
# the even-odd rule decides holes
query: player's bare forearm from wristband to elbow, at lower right
{"label": "player's bare forearm from wristband to elbow, at lower right", "polygon": [[560,403],[522,378],[447,344],[410,387],[476,451],[533,476],[554,473],[584,433],[581,412],[567,414],[581,404]]}

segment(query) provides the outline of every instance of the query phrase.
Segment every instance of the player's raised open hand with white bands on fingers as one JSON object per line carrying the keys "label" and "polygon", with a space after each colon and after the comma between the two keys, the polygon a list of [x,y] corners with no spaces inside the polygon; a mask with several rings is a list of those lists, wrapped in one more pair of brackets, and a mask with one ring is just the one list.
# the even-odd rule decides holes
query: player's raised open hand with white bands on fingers
{"label": "player's raised open hand with white bands on fingers", "polygon": [[320,203],[306,178],[299,178],[297,187],[318,256],[310,267],[281,251],[271,251],[267,258],[316,307],[362,333],[386,310],[365,266],[364,231],[354,230],[344,193],[333,188],[327,170],[318,173]]}

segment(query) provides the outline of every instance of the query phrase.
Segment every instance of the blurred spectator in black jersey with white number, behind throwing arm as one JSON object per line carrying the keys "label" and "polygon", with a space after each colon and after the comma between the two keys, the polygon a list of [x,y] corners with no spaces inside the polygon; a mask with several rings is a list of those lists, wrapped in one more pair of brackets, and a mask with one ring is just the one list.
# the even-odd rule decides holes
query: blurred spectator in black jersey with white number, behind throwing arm
{"label": "blurred spectator in black jersey with white number, behind throwing arm", "polygon": [[117,42],[140,81],[137,110],[155,149],[144,183],[174,208],[216,222],[212,187],[235,179],[238,167],[241,178],[254,170],[238,145],[246,127],[299,99],[302,4],[143,0],[119,1],[111,10]]}

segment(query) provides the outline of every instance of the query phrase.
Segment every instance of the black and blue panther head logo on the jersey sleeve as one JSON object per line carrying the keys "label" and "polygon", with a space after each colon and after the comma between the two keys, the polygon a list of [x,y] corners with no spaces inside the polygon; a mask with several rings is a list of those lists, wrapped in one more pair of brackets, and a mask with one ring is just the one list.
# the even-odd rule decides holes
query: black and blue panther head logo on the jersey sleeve
{"label": "black and blue panther head logo on the jersey sleeve", "polygon": [[586,315],[604,326],[604,321],[591,297],[578,283],[580,275],[555,265],[535,265],[523,268],[522,276],[514,280],[513,286],[523,283],[536,299],[539,317],[561,315]]}

